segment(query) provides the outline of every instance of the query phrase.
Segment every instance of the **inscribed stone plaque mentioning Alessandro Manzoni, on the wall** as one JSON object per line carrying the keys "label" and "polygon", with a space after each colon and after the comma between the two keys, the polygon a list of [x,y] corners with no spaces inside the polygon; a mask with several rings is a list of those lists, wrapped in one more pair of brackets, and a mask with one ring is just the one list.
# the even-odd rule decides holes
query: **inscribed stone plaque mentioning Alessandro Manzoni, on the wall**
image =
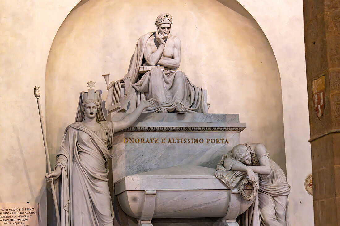
{"label": "inscribed stone plaque mentioning Alessandro Manzoni, on the wall", "polygon": [[37,203],[0,203],[0,226],[38,226]]}

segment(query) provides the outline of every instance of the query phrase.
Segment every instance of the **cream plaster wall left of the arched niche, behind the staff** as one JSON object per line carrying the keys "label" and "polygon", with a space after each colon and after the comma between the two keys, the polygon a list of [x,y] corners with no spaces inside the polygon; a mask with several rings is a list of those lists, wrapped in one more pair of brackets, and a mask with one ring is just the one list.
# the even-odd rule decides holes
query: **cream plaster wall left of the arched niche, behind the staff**
{"label": "cream plaster wall left of the arched niche, behind the staff", "polygon": [[[39,203],[46,225],[46,158],[33,87],[45,114],[46,60],[75,1],[0,2],[0,202]],[[44,116],[45,117],[45,116]]]}

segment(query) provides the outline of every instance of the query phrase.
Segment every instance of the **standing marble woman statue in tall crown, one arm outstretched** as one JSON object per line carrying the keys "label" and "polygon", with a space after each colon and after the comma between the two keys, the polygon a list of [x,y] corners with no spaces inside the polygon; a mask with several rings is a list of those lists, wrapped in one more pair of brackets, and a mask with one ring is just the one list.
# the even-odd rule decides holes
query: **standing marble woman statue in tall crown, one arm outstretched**
{"label": "standing marble woman statue in tall crown, one arm outstretched", "polygon": [[112,122],[105,120],[99,94],[85,94],[80,96],[76,122],[65,130],[55,169],[45,176],[48,182],[52,176],[56,180],[62,226],[113,226],[107,179],[113,134],[129,127],[156,100],[142,100],[132,113]]}

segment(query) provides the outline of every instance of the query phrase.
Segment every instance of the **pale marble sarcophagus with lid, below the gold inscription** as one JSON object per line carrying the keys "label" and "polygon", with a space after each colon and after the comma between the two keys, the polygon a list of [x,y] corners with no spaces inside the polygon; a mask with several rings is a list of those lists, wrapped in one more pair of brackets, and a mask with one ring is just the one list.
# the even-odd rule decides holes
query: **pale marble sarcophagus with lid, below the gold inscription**
{"label": "pale marble sarcophagus with lid, below the gold inscription", "polygon": [[151,226],[155,218],[222,218],[221,225],[238,226],[236,218],[253,201],[230,189],[215,169],[180,165],[125,176],[115,183],[123,211]]}

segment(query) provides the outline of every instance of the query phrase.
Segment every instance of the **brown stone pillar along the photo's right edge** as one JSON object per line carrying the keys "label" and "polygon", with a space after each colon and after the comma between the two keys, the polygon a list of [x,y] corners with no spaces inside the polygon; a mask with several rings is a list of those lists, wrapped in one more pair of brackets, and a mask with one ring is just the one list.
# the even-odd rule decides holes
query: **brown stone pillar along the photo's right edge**
{"label": "brown stone pillar along the photo's right edge", "polygon": [[[314,222],[340,225],[340,1],[303,0],[303,10]],[[324,111],[319,119],[312,82],[323,75]]]}

